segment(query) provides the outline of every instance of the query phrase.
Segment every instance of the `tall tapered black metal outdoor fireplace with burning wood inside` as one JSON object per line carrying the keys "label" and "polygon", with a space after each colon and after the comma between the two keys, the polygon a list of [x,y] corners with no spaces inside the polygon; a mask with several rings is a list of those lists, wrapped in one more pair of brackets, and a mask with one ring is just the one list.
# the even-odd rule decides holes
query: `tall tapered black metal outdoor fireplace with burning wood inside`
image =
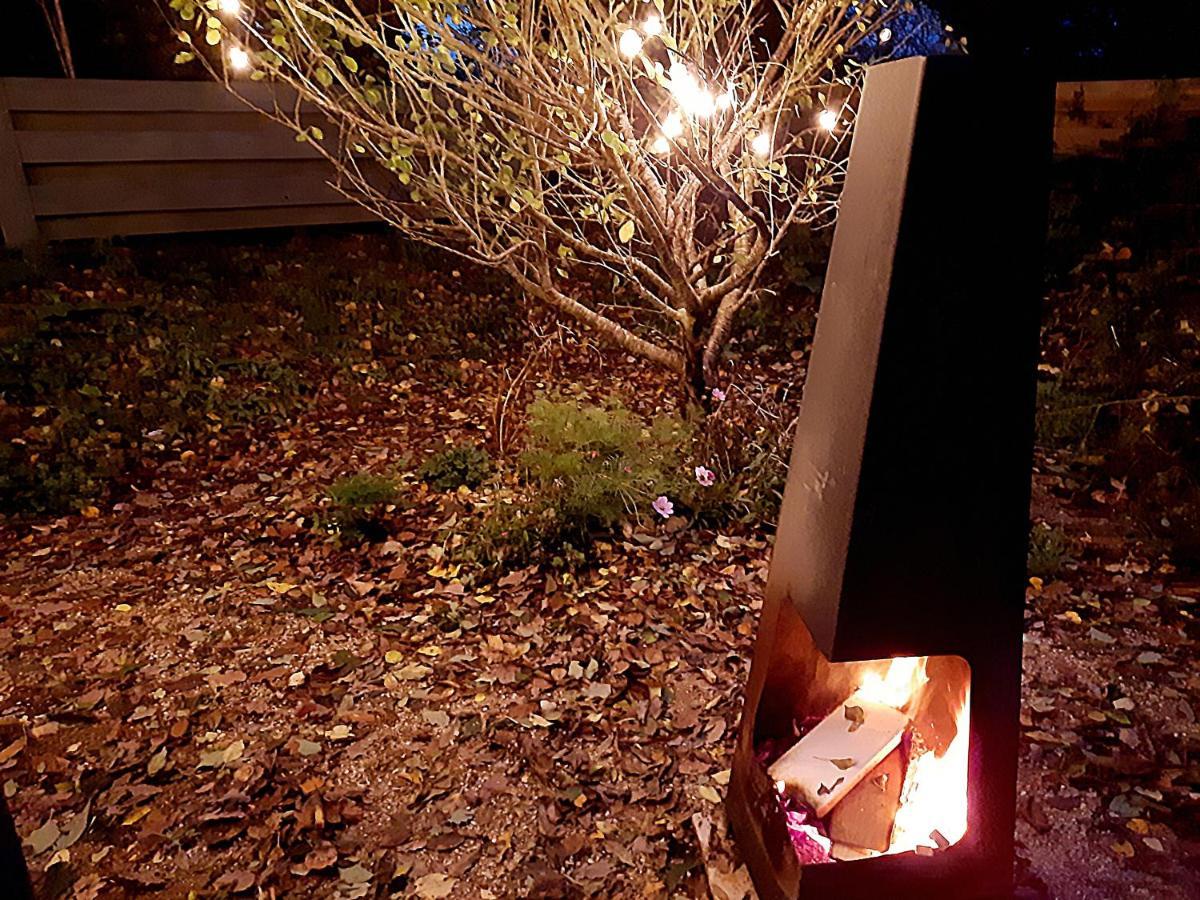
{"label": "tall tapered black metal outdoor fireplace with burning wood inside", "polygon": [[[1012,890],[1052,86],[961,58],[868,76],[730,786],[763,900]],[[919,697],[863,751],[856,691],[887,664],[857,661],[890,658],[922,658]],[[961,835],[878,854],[896,779],[908,791],[920,754],[948,752]],[[816,815],[832,800],[840,824]],[[802,865],[788,802],[822,846],[883,844],[833,840],[839,860]]]}

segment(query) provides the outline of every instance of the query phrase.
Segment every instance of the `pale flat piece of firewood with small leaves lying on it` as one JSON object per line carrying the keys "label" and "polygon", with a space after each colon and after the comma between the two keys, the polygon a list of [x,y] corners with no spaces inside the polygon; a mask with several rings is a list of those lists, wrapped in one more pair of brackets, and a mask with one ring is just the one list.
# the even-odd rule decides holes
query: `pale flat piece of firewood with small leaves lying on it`
{"label": "pale flat piece of firewood with small leaves lying on it", "polygon": [[904,713],[854,694],[779,757],[768,773],[824,818],[896,749],[907,727]]}

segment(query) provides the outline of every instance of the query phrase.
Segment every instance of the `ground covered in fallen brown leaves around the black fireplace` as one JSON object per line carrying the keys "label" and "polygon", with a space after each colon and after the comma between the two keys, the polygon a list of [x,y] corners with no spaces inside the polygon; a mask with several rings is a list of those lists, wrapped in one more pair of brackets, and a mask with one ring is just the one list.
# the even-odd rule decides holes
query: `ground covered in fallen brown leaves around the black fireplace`
{"label": "ground covered in fallen brown leaves around the black fireplace", "polygon": [[[481,439],[522,362],[334,376],[88,516],[0,524],[0,781],[43,895],[742,896],[720,802],[767,523],[493,576],[446,553],[466,493],[413,481],[365,548],[312,528],[335,476]],[[1120,485],[1046,454],[1034,485],[1073,551],[1028,590],[1019,881],[1200,895],[1200,580]]]}

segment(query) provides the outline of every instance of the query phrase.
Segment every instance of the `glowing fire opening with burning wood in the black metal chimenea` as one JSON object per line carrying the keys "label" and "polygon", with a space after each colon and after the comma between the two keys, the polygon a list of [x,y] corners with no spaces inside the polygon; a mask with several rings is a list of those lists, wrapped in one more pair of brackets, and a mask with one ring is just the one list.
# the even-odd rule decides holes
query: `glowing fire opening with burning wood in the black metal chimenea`
{"label": "glowing fire opening with burning wood in the black metal chimenea", "polygon": [[756,757],[803,865],[931,856],[967,832],[971,668],[961,656],[817,665],[791,734]]}

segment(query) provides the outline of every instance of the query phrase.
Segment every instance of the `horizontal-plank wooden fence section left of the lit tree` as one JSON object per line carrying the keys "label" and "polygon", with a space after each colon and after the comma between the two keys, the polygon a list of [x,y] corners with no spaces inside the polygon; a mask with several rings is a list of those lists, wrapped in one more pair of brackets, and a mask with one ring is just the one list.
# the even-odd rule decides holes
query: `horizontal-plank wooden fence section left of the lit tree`
{"label": "horizontal-plank wooden fence section left of the lit tree", "polygon": [[[269,88],[241,95],[266,108]],[[36,240],[372,218],[293,133],[204,82],[0,79],[0,230]]]}

